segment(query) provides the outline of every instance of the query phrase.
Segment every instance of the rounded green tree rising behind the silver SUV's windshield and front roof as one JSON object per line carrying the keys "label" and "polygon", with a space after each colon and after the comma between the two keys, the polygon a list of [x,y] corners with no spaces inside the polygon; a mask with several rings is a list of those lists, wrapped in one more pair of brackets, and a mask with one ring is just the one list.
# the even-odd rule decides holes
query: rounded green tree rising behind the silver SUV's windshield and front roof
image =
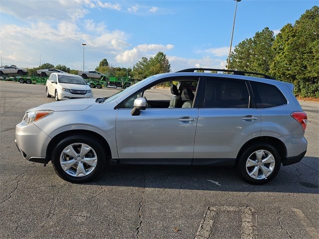
{"label": "rounded green tree rising behind the silver SUV's windshield and front roof", "polygon": [[158,52],[150,59],[142,59],[133,66],[132,75],[134,79],[145,79],[149,76],[170,72],[170,64],[163,52]]}

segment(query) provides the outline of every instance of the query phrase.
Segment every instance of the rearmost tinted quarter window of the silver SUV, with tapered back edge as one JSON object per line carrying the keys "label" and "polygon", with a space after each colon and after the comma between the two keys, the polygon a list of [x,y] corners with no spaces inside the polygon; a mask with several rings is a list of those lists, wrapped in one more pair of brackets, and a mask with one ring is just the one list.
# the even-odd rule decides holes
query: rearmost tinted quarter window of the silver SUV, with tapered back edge
{"label": "rearmost tinted quarter window of the silver SUV, with tapered back edge", "polygon": [[287,104],[283,93],[276,86],[255,81],[251,81],[250,84],[257,108],[271,108]]}

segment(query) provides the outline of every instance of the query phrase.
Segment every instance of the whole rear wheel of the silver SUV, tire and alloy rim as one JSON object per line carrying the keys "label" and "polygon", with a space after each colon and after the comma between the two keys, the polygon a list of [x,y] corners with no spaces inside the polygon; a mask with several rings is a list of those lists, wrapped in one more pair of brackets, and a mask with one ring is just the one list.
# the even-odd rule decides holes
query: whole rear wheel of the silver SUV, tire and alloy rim
{"label": "whole rear wheel of the silver SUV, tire and alloy rim", "polygon": [[248,147],[236,163],[237,172],[251,184],[264,184],[279,172],[281,157],[278,150],[268,143]]}

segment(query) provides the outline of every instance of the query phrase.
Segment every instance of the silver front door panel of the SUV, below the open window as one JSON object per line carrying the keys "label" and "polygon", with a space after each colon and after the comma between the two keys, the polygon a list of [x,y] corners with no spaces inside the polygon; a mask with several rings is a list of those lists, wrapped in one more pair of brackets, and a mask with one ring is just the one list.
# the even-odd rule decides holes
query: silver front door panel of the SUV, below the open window
{"label": "silver front door panel of the SUV, below the open window", "polygon": [[[194,149],[198,109],[118,110],[116,140],[121,159],[188,159]],[[189,120],[187,120],[189,119]],[[180,121],[181,120],[181,121]]]}

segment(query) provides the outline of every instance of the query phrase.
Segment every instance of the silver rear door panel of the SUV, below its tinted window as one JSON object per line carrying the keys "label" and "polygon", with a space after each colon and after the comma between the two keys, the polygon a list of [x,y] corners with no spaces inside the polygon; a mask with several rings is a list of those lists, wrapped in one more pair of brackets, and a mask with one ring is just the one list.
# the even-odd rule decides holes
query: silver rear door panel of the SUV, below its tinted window
{"label": "silver rear door panel of the SUV, below its tinted window", "polygon": [[194,161],[236,158],[240,147],[260,136],[260,131],[261,114],[257,109],[199,109]]}

